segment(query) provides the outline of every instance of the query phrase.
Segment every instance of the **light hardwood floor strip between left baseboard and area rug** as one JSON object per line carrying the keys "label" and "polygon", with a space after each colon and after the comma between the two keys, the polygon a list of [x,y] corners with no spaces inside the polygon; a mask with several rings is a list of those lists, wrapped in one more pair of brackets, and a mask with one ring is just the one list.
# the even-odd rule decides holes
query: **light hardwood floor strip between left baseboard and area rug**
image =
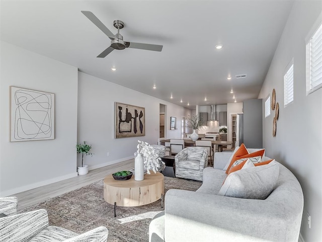
{"label": "light hardwood floor strip between left baseboard and area rug", "polygon": [[97,181],[103,180],[107,175],[112,173],[131,170],[134,168],[134,159],[125,160],[117,164],[98,168],[89,171],[87,175],[77,176],[64,181],[52,183],[46,186],[34,188],[25,192],[17,193],[12,196],[18,197],[18,209],[43,202],[75,189],[87,186]]}

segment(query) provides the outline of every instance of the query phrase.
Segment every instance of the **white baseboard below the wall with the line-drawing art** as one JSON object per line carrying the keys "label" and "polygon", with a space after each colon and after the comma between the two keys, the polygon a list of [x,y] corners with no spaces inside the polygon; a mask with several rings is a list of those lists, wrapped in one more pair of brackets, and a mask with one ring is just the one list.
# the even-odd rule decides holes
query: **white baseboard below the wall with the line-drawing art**
{"label": "white baseboard below the wall with the line-drawing art", "polygon": [[72,178],[72,177],[77,177],[77,176],[78,176],[77,172],[73,172],[73,173],[67,174],[65,176],[55,177],[55,178],[44,180],[44,181],[41,181],[41,182],[32,183],[32,184],[29,184],[29,185],[26,185],[26,186],[17,187],[17,188],[14,188],[14,189],[3,191],[1,193],[1,197],[12,196],[12,195],[14,195],[16,193],[25,192],[25,191],[28,191],[30,189],[34,189],[34,188],[37,188],[37,187],[42,187],[42,186],[45,186],[45,185],[48,185],[48,184],[51,184],[51,183],[60,182],[60,181],[63,181],[63,180],[66,180],[66,179],[69,179],[69,178]]}

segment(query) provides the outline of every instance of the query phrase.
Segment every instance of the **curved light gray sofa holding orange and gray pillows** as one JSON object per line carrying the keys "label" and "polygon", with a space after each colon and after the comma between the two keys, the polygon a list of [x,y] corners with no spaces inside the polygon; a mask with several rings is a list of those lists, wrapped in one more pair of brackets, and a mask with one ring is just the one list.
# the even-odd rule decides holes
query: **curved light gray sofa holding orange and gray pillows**
{"label": "curved light gray sofa holding orange and gray pillows", "polygon": [[196,192],[166,193],[165,211],[150,222],[149,241],[298,241],[303,193],[295,176],[274,163],[279,175],[266,199],[220,196],[230,155],[215,153],[214,168],[204,169]]}

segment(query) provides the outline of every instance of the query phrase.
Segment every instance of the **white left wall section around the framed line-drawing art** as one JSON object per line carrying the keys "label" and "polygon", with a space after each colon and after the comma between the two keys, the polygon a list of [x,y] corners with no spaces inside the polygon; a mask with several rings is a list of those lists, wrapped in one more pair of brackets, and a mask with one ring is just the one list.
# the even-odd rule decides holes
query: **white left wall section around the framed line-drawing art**
{"label": "white left wall section around the framed line-drawing art", "polygon": [[[9,142],[9,87],[55,94],[55,139]],[[77,68],[1,42],[0,196],[76,176]]]}

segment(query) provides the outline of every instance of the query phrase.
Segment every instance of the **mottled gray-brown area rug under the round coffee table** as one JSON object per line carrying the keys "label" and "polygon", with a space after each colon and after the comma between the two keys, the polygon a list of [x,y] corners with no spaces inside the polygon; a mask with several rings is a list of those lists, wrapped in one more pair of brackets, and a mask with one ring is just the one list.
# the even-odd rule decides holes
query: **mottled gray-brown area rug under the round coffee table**
{"label": "mottled gray-brown area rug under the round coffee table", "polygon": [[[165,192],[169,189],[196,191],[201,184],[197,181],[165,177]],[[152,217],[164,210],[161,200],[138,207],[117,207],[114,217],[114,205],[105,202],[103,187],[102,180],[26,207],[19,212],[43,208],[48,212],[50,225],[77,233],[106,226],[109,230],[108,242],[147,242],[148,226]]]}

